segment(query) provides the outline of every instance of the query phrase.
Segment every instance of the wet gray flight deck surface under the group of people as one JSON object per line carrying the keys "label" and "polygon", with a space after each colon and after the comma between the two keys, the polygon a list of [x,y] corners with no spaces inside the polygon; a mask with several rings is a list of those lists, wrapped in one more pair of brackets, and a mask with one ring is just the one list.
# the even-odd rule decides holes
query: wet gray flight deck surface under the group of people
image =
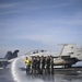
{"label": "wet gray flight deck surface under the group of people", "polygon": [[[11,75],[11,70],[0,70],[0,82],[14,82]],[[21,82],[81,82],[82,81],[82,68],[70,69],[55,69],[54,75],[48,74],[25,74],[25,71],[17,71],[17,75]],[[20,82],[19,81],[19,82]]]}

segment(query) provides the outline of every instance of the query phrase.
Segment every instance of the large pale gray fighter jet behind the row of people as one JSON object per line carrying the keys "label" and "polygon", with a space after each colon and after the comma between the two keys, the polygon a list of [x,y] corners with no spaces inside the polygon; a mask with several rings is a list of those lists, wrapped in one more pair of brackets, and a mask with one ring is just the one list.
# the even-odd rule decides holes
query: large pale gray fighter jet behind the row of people
{"label": "large pale gray fighter jet behind the row of people", "polygon": [[33,50],[30,55],[31,57],[37,56],[52,56],[54,66],[63,66],[65,68],[72,67],[78,61],[82,61],[82,50],[78,48],[75,44],[61,44],[62,48],[59,54],[50,52],[47,50]]}

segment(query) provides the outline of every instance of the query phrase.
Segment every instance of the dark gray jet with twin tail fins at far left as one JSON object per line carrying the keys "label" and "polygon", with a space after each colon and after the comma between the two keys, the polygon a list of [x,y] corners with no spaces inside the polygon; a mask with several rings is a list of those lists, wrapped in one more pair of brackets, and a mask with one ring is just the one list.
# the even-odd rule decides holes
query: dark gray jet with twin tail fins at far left
{"label": "dark gray jet with twin tail fins at far left", "polygon": [[11,63],[13,59],[17,57],[17,52],[19,50],[14,50],[14,52],[8,51],[4,58],[0,58],[0,69],[3,69]]}

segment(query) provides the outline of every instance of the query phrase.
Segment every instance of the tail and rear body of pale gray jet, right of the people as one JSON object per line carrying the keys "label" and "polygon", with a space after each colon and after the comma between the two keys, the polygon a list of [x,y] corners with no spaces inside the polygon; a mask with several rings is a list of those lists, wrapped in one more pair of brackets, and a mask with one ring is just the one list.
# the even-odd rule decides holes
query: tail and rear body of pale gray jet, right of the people
{"label": "tail and rear body of pale gray jet, right of the people", "polygon": [[72,67],[78,61],[82,61],[82,50],[75,44],[62,44],[59,56],[54,57],[55,66]]}

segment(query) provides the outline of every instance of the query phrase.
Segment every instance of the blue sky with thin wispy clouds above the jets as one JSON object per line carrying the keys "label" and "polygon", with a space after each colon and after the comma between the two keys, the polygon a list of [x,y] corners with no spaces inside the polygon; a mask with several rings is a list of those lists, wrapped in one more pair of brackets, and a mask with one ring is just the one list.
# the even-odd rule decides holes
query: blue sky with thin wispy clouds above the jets
{"label": "blue sky with thin wispy clouds above the jets", "polygon": [[82,45],[82,0],[0,0],[0,57],[58,44]]}

